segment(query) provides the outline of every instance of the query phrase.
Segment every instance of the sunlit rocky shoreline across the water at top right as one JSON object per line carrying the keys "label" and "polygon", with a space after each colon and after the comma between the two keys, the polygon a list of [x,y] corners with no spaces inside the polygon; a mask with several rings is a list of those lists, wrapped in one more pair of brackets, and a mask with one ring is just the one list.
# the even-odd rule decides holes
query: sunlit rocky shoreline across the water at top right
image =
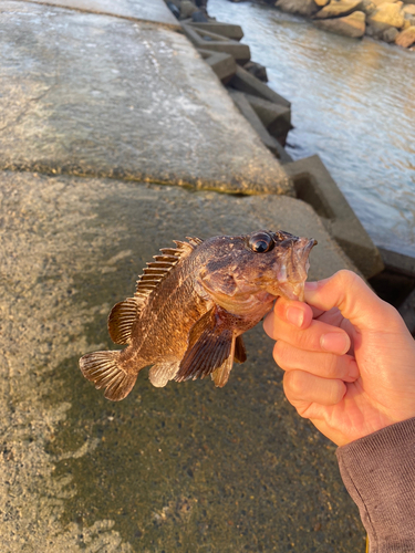
{"label": "sunlit rocky shoreline across the water at top right", "polygon": [[336,34],[353,39],[371,36],[415,51],[415,0],[256,1],[309,18],[320,29]]}

